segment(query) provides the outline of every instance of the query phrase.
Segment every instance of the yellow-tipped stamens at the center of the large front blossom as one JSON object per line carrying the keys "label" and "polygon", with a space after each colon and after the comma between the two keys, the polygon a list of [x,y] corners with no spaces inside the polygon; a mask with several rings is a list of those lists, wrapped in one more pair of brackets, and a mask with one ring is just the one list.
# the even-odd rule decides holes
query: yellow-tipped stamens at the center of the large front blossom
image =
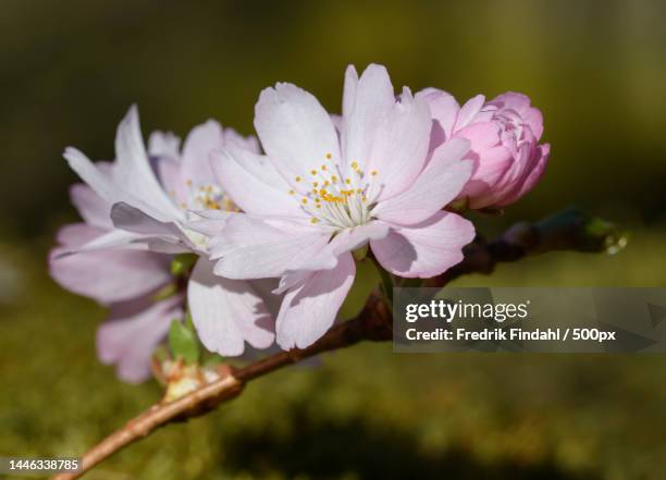
{"label": "yellow-tipped stamens at the center of the large front blossom", "polygon": [[322,223],[334,230],[362,225],[372,219],[372,209],[381,186],[377,170],[363,172],[353,161],[345,175],[341,165],[325,155],[319,169],[296,176],[289,190],[300,208],[310,216],[310,223]]}

